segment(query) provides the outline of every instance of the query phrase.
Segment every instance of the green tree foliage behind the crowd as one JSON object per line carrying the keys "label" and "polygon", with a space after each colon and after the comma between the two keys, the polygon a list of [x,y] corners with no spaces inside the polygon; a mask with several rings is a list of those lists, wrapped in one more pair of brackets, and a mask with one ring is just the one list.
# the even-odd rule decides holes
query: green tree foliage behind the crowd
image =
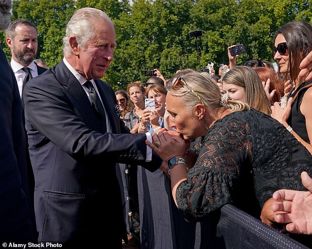
{"label": "green tree foliage behind the crowd", "polygon": [[[311,23],[311,0],[13,0],[12,20],[25,18],[38,29],[38,58],[48,66],[62,59],[65,26],[76,9],[94,7],[115,24],[117,48],[103,80],[117,90],[146,81],[144,70],[158,68],[169,79],[178,69],[228,63],[227,47],[243,43],[251,59],[273,61],[275,31],[284,23]],[[202,30],[203,36],[189,37]],[[5,33],[0,44],[8,59]],[[198,48],[197,49],[197,45]],[[198,55],[200,57],[198,58]],[[218,71],[218,70],[217,70]]]}

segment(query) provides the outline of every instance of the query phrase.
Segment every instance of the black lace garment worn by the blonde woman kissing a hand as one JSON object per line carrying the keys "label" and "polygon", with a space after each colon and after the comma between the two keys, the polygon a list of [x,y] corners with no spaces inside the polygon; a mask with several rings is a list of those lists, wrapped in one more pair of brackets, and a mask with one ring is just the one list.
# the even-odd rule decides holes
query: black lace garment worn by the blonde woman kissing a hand
{"label": "black lace garment worn by the blonde woman kissing a hand", "polygon": [[178,208],[189,221],[211,218],[227,203],[259,218],[275,190],[306,190],[300,173],[312,175],[309,151],[254,109],[218,120],[192,149],[197,161],[176,191]]}

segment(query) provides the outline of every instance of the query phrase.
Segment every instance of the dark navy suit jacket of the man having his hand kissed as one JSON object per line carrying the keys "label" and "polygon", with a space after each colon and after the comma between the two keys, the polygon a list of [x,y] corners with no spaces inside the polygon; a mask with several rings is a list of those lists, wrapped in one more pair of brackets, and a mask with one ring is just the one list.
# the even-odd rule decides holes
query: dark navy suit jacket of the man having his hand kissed
{"label": "dark navy suit jacket of the man having his hand kissed", "polygon": [[121,246],[126,230],[116,162],[151,171],[160,166],[156,155],[152,162],[145,160],[144,133],[119,134],[129,130],[114,110],[115,93],[107,83],[95,83],[112,133],[106,133],[83,87],[63,62],[24,88],[39,242],[89,248],[94,243],[95,248],[107,230],[105,237]]}

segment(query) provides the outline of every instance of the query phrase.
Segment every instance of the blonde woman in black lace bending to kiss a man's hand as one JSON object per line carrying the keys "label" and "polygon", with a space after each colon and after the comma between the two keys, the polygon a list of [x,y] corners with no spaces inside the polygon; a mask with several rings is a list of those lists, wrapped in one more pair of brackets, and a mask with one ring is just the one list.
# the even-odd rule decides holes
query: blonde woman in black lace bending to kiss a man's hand
{"label": "blonde woman in black lace bending to kiss a man's hand", "polygon": [[311,154],[278,121],[221,95],[197,72],[166,89],[169,125],[176,131],[155,132],[153,144],[147,144],[168,162],[173,198],[187,220],[214,218],[231,203],[273,221],[273,213],[261,214],[273,192],[305,189],[300,173],[312,174]]}

